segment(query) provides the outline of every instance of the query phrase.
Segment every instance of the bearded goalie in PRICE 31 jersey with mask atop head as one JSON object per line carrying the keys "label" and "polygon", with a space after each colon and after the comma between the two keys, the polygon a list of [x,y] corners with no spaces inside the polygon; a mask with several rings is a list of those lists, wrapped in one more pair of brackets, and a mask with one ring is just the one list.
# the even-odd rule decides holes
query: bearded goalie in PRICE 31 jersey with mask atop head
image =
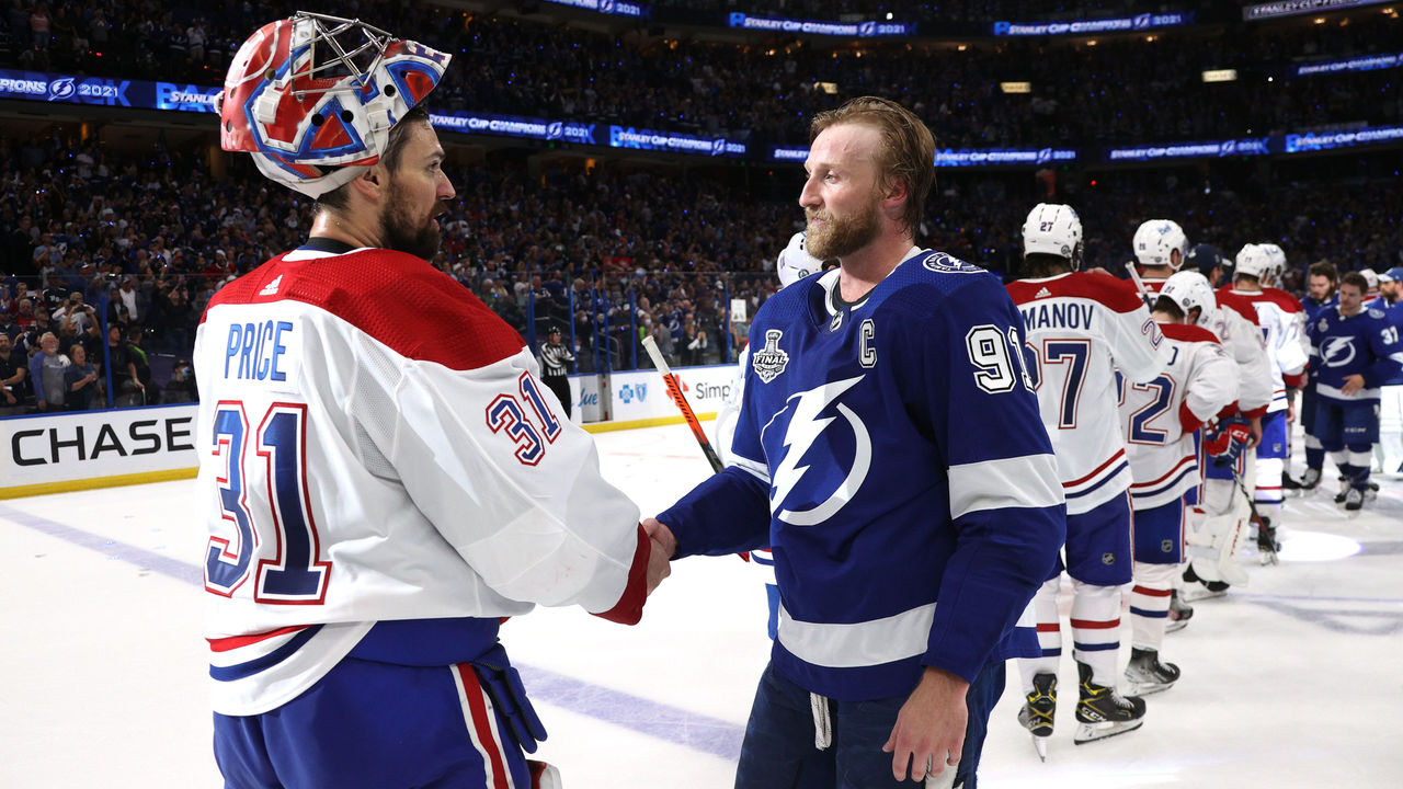
{"label": "bearded goalie in PRICE 31 jersey with mask atop head", "polygon": [[195,341],[226,786],[551,786],[501,622],[633,623],[666,576],[521,337],[428,263],[455,192],[419,102],[448,62],[299,13],[224,80],[224,150],[317,201]]}

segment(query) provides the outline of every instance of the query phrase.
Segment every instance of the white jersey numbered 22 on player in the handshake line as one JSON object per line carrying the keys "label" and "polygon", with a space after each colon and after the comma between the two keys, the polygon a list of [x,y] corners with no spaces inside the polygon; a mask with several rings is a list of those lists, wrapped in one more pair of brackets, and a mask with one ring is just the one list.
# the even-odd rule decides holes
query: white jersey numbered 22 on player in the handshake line
{"label": "white jersey numbered 22 on player in the handshake line", "polygon": [[1200,483],[1194,431],[1237,402],[1237,365],[1212,331],[1162,323],[1169,359],[1149,383],[1121,383],[1131,504],[1163,507]]}

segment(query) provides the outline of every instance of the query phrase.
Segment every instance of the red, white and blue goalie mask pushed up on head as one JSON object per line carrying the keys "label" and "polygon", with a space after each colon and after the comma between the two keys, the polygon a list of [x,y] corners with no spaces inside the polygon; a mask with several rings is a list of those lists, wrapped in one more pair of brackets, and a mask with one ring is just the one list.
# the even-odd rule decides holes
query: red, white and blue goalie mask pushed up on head
{"label": "red, white and blue goalie mask pushed up on head", "polygon": [[297,11],[239,48],[219,95],[219,145],[307,197],[380,160],[390,128],[438,86],[450,55],[359,20]]}

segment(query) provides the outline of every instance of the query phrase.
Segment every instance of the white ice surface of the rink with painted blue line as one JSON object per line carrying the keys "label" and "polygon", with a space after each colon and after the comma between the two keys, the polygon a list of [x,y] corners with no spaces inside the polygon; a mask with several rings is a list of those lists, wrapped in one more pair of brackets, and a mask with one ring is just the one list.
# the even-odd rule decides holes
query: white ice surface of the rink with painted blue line
{"label": "white ice surface of the rink with painted blue line", "polygon": [[[682,425],[598,439],[606,476],[644,514],[709,473]],[[1288,498],[1280,566],[1242,556],[1251,583],[1198,602],[1191,625],[1166,637],[1164,658],[1184,678],[1148,696],[1139,731],[1072,744],[1068,657],[1040,764],[1014,720],[1010,665],[981,785],[1403,785],[1393,717],[1403,708],[1403,482],[1382,482],[1352,518],[1329,487]],[[0,503],[0,788],[220,785],[192,489]],[[1122,628],[1124,663],[1128,616]],[[760,581],[739,559],[673,564],[636,628],[537,609],[508,622],[502,640],[550,731],[537,757],[561,768],[568,789],[731,786],[769,650]]]}

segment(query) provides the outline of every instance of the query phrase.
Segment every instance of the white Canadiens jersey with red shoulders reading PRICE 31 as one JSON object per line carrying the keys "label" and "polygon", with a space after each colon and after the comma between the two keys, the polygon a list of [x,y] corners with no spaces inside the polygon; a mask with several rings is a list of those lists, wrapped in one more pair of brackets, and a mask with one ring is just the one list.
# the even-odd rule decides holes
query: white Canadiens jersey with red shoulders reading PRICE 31
{"label": "white Canadiens jersey with red shoulders reading PRICE 31", "polygon": [[216,712],[293,699],[379,621],[641,616],[637,507],[521,337],[425,261],[279,256],[215,295],[194,361]]}

